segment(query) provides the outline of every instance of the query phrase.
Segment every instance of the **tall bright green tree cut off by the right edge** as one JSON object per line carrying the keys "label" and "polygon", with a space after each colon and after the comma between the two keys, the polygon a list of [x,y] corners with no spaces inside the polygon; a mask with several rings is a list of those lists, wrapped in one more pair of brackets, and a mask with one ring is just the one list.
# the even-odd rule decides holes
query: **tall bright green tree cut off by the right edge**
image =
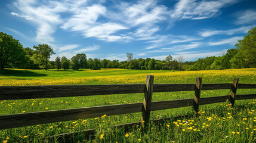
{"label": "tall bright green tree cut off by the right edge", "polygon": [[[248,31],[235,45],[239,49],[245,67],[256,67],[256,27]],[[235,61],[235,60],[233,60]]]}

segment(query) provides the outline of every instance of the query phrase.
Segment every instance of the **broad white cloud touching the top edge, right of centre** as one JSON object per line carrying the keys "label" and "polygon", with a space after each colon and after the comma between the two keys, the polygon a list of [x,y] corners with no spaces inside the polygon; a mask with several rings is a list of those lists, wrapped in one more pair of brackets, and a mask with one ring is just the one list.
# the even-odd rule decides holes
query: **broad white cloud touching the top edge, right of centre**
{"label": "broad white cloud touching the top edge, right of centre", "polygon": [[235,0],[218,0],[218,1],[196,1],[181,0],[175,4],[174,10],[170,16],[177,20],[192,19],[199,20],[210,18],[221,14],[220,9],[227,5],[235,4]]}

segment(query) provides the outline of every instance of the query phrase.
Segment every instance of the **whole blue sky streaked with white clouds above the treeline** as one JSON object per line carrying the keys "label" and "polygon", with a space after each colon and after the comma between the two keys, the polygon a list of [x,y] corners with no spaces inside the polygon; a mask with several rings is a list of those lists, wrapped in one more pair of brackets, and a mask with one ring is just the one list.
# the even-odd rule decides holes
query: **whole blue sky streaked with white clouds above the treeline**
{"label": "whole blue sky streaked with white clouds above the treeline", "polygon": [[55,57],[127,60],[219,56],[256,26],[255,0],[0,1],[0,31]]}

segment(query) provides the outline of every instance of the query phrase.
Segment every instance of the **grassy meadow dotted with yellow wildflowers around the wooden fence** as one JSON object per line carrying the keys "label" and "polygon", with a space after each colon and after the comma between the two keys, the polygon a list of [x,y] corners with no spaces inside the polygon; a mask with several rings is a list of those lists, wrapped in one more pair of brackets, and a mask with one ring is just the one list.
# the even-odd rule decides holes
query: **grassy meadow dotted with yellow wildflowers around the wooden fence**
{"label": "grassy meadow dotted with yellow wildflowers around the wooden fence", "polygon": [[[239,77],[239,83],[256,83],[256,69],[212,71],[162,71],[162,70],[12,70],[0,72],[0,85],[89,85],[145,83],[146,75],[155,76],[154,83],[195,83],[203,77],[203,83],[231,83]],[[238,94],[255,94],[255,89],[238,89]],[[201,97],[230,95],[230,90],[202,91]],[[194,92],[153,93],[153,101],[193,98]],[[0,114],[29,113],[64,108],[92,107],[98,105],[143,102],[143,94],[98,95],[90,97],[44,98],[33,100],[0,101]],[[193,119],[166,120],[161,125],[150,126],[141,133],[140,126],[129,132],[112,130],[109,126],[138,122],[141,113],[106,116],[96,119],[73,120],[15,129],[0,130],[2,142],[45,142],[46,136],[95,128],[95,139],[84,140],[82,133],[73,142],[255,142],[255,101],[236,101],[235,108],[229,102],[201,105],[200,116]],[[180,114],[192,114],[192,107],[152,111],[151,119],[161,119]],[[115,131],[115,132],[114,132]]]}

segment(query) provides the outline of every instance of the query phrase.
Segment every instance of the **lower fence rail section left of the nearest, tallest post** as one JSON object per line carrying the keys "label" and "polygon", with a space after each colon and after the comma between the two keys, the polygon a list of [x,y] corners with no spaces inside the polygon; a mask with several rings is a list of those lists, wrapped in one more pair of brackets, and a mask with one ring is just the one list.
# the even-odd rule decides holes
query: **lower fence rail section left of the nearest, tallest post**
{"label": "lower fence rail section left of the nearest, tallest post", "polygon": [[101,117],[104,114],[111,116],[116,114],[136,113],[141,112],[142,106],[143,103],[140,102],[134,104],[104,105],[98,107],[2,115],[0,116],[0,129]]}

